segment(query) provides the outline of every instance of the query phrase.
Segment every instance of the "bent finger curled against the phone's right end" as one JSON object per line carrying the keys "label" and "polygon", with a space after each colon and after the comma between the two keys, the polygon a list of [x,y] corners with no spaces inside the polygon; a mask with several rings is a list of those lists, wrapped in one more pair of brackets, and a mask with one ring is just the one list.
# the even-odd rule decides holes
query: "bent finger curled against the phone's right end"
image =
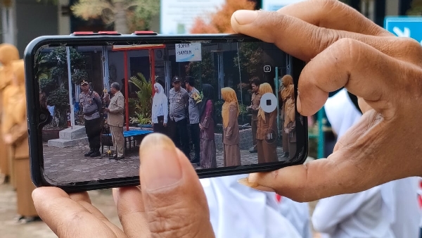
{"label": "bent finger curled against the phone's right end", "polygon": [[303,92],[298,94],[298,112],[314,115],[325,104],[328,92],[345,87],[378,113],[390,117],[394,115],[392,90],[403,84],[397,79],[404,78],[404,74],[416,78],[415,70],[367,44],[340,39],[303,68],[298,83],[298,92]]}

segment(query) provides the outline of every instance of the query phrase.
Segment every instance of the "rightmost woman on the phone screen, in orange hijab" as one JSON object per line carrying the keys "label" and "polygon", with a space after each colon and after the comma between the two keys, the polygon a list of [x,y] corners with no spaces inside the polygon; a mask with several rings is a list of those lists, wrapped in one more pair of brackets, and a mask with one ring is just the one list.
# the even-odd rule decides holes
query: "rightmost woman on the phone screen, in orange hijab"
{"label": "rightmost woman on the phone screen, in orange hijab", "polygon": [[293,86],[293,77],[290,75],[284,75],[283,78],[283,90],[281,91],[282,100],[282,115],[281,119],[283,123],[283,152],[284,157],[289,157],[289,137],[290,132],[295,127],[295,87]]}

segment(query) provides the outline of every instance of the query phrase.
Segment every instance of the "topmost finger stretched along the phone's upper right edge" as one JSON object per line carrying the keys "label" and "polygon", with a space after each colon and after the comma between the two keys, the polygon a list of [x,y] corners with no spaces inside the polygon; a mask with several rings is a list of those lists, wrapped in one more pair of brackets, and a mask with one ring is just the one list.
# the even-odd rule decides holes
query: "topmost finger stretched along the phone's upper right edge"
{"label": "topmost finger stretched along the phone's upper right edge", "polygon": [[333,30],[274,11],[236,11],[231,17],[231,26],[237,33],[274,43],[287,54],[306,62],[338,39],[350,38],[369,44],[389,56],[422,65],[422,47],[408,37],[376,37]]}

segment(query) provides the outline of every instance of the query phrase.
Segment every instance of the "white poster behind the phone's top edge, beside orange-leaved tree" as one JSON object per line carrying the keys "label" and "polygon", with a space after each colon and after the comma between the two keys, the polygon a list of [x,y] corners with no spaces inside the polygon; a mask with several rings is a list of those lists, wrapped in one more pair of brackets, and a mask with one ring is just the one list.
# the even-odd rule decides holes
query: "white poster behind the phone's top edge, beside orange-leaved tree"
{"label": "white poster behind the phone's top edge, beside orange-leaved tree", "polygon": [[188,34],[197,17],[216,12],[225,3],[226,0],[161,0],[160,33]]}

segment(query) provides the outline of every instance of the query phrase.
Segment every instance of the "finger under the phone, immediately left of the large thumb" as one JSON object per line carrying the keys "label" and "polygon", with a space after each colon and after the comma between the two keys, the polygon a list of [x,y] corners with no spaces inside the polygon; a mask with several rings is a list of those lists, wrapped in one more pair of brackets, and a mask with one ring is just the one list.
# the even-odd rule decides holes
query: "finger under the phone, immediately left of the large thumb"
{"label": "finger under the phone, immediately left of the large thumb", "polygon": [[140,187],[113,189],[117,214],[127,237],[151,237]]}

